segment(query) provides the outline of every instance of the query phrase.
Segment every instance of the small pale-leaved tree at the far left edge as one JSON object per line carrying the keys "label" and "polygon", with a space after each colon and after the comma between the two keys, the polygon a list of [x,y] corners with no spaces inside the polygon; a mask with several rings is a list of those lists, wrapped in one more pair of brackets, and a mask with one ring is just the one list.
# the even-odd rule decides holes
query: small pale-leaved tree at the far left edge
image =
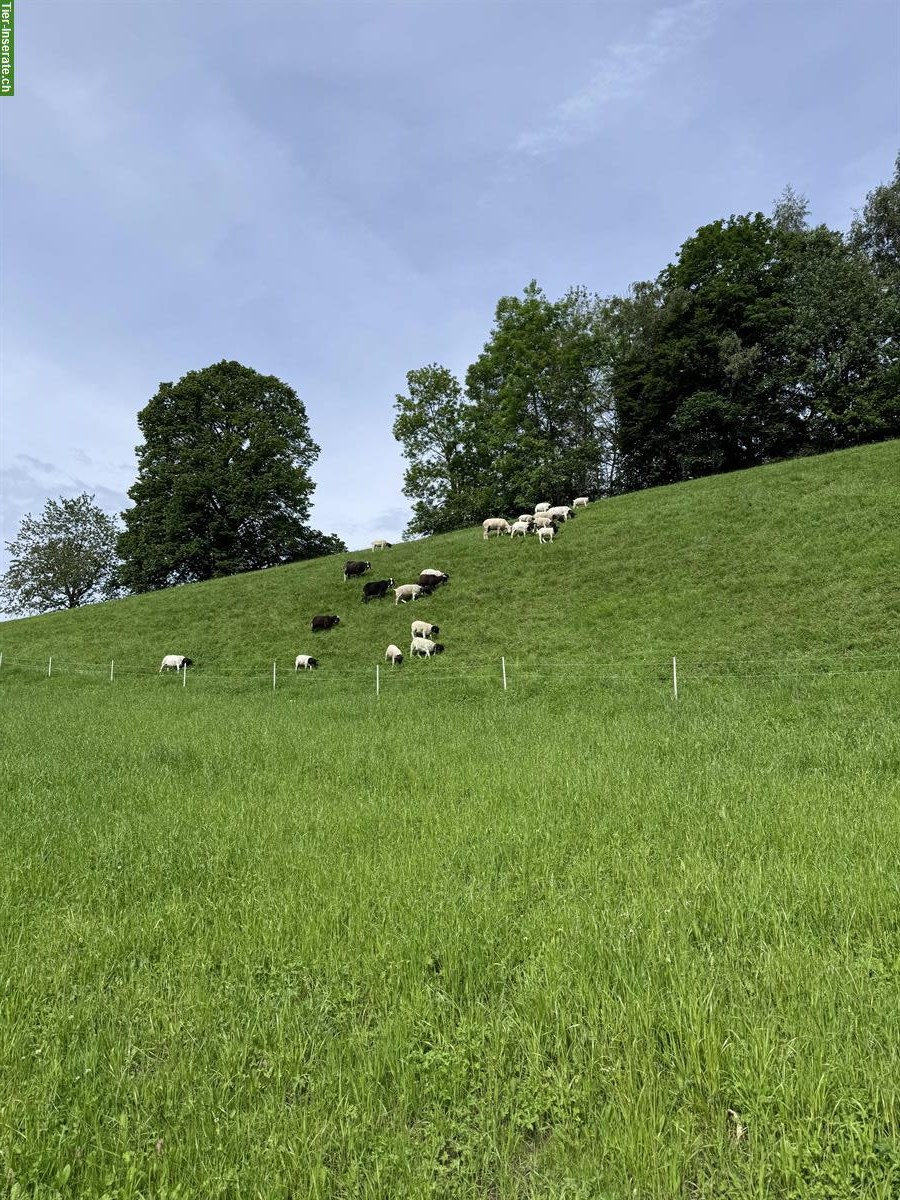
{"label": "small pale-leaved tree at the far left edge", "polygon": [[0,598],[11,613],[77,608],[118,594],[118,528],[113,517],[83,492],[47,500],[40,517],[28,514],[0,577]]}

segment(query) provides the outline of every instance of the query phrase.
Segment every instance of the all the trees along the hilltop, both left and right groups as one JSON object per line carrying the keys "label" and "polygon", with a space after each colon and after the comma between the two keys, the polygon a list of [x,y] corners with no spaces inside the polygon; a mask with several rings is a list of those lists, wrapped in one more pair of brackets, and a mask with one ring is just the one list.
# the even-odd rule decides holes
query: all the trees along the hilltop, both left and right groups
{"label": "all the trees along the hilltop, both left and right groups", "polygon": [[[407,374],[410,536],[900,436],[900,155],[847,233],[790,187],[700,228],[653,281],[504,296],[460,383]],[[319,446],[293,388],[222,361],[162,383],[124,528],[86,493],[7,542],[0,600],[48,612],[344,551],[308,523]]]}

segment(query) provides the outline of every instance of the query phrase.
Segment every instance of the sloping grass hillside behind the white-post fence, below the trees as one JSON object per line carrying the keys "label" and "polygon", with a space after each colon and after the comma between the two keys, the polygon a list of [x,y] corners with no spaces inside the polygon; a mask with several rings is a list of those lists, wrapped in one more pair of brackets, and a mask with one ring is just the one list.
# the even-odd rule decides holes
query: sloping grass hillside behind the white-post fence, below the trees
{"label": "sloping grass hillside behind the white-post fence, below the trees", "polygon": [[[506,514],[514,516],[514,514]],[[283,667],[314,653],[323,668],[362,667],[406,648],[416,618],[442,626],[443,670],[560,671],[685,658],[721,660],[887,650],[900,634],[900,442],[802,458],[592,505],[556,544],[485,542],[479,528],[360,551],[367,578],[449,587],[395,607],[362,605],[343,557],[132,596],[0,626],[4,666],[48,655],[65,670],[109,662],[154,671],[191,655],[204,674]],[[313,636],[310,619],[341,625]]]}

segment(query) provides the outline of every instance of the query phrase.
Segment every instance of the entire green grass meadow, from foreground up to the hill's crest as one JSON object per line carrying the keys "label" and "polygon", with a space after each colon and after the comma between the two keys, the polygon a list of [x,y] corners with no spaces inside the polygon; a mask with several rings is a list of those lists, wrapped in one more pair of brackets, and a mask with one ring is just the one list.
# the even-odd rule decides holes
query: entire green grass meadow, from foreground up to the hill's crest
{"label": "entire green grass meadow, from foreground up to the hill's crest", "polygon": [[361,557],[0,625],[0,1194],[895,1200],[900,443]]}

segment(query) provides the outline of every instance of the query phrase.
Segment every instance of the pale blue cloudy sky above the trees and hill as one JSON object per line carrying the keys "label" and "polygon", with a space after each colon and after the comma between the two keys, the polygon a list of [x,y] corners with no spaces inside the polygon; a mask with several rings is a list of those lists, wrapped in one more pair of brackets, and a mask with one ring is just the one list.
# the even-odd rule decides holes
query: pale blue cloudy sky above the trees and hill
{"label": "pale blue cloudy sky above the trees and hill", "polygon": [[313,523],[394,540],[394,397],[502,295],[619,293],[787,184],[847,228],[900,146],[896,0],[20,0],[16,68],[4,540],[120,511],[138,410],[220,359],[304,400]]}

